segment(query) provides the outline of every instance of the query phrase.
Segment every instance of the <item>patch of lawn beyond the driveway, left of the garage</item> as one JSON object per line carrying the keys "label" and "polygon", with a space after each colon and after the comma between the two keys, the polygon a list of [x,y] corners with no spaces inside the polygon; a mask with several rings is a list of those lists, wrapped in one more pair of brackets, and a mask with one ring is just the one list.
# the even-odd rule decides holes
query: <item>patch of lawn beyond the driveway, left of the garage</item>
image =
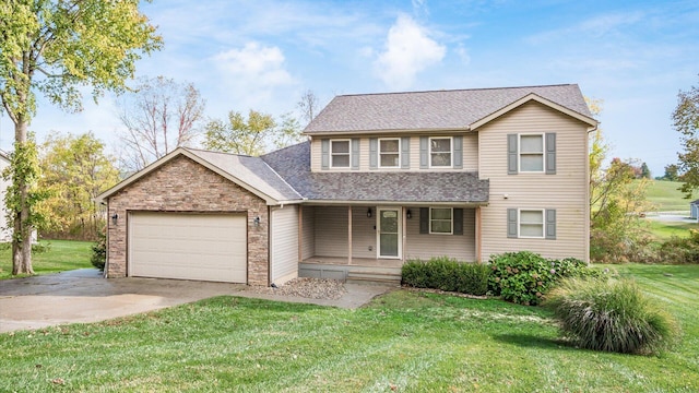
{"label": "patch of lawn beyond the driveway, left of the garage", "polygon": [[[47,246],[46,252],[32,253],[32,266],[36,274],[58,273],[75,269],[92,267],[90,241],[42,240]],[[12,278],[12,249],[4,246],[0,249],[0,279]]]}

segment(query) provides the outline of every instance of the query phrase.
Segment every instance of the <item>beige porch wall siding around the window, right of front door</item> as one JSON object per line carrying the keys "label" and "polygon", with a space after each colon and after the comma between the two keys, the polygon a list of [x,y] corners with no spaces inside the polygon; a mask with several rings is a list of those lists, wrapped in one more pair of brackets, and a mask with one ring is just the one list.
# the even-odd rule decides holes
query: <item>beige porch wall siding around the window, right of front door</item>
{"label": "beige porch wall siding around the window, right of front door", "polygon": [[463,235],[428,235],[419,233],[419,209],[411,207],[406,221],[405,260],[447,255],[473,262],[475,251],[475,210],[463,210]]}

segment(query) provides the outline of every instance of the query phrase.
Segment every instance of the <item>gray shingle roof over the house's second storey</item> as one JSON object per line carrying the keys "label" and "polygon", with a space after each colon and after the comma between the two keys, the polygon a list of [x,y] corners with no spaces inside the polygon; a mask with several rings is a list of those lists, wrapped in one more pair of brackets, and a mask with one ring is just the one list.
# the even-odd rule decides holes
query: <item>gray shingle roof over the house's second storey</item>
{"label": "gray shingle roof over the house's second storey", "polygon": [[529,94],[592,117],[577,84],[336,96],[305,132],[465,129]]}

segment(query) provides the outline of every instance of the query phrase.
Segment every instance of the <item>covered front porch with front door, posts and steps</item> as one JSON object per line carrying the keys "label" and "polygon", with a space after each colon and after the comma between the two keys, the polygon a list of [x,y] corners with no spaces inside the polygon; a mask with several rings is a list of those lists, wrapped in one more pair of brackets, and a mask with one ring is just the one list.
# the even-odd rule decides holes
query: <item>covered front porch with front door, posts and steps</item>
{"label": "covered front porch with front door, posts and steps", "polygon": [[303,205],[298,225],[299,276],[400,283],[406,260],[479,255],[474,205]]}

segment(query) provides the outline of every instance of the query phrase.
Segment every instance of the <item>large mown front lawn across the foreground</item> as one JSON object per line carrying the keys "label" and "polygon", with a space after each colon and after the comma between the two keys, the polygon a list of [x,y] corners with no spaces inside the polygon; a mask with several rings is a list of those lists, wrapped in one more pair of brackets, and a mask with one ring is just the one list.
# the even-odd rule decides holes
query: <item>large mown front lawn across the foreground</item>
{"label": "large mown front lawn across the foreground", "polygon": [[683,324],[661,356],[576,349],[550,313],[396,290],[358,310],[217,297],[0,334],[0,391],[699,391],[699,266],[621,265]]}

